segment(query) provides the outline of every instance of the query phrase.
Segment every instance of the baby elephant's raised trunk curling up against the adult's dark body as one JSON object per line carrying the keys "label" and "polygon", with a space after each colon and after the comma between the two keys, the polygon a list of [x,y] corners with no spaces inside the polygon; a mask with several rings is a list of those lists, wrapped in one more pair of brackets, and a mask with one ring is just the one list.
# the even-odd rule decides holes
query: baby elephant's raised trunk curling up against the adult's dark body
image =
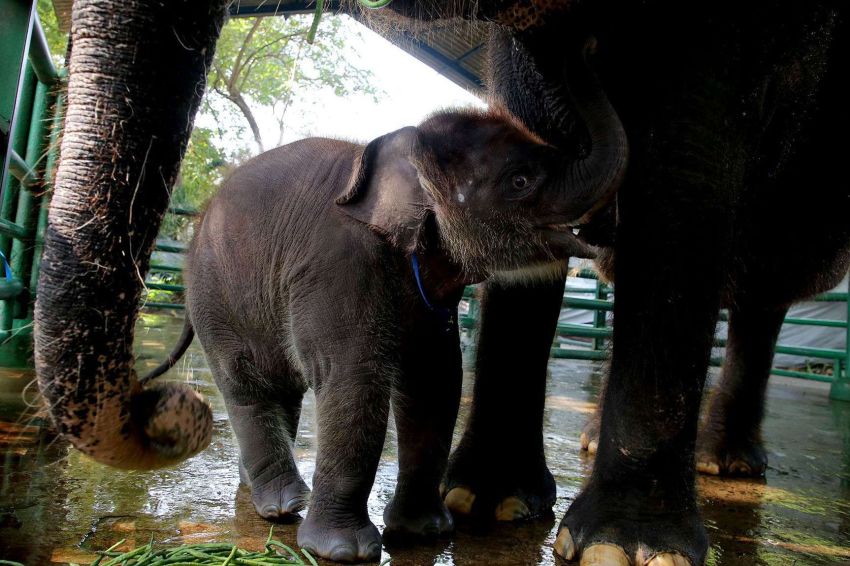
{"label": "baby elephant's raised trunk curling up against the adult's dark body", "polygon": [[561,87],[568,90],[579,117],[587,128],[590,151],[582,159],[565,163],[558,215],[571,226],[586,224],[610,202],[623,180],[629,146],[623,124],[611,107],[599,80],[587,64],[584,49],[567,56]]}

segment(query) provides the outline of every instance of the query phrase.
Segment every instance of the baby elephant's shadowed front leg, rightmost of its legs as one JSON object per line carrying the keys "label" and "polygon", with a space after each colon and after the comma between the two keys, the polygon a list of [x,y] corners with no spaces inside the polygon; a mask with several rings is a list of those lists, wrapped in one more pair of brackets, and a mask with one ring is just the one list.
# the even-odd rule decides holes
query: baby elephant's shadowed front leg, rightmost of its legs
{"label": "baby elephant's shadowed front leg, rightmost of its legs", "polygon": [[393,391],[398,434],[398,484],[384,510],[385,534],[435,536],[454,527],[440,497],[460,403],[461,354],[457,329],[417,321],[405,352],[404,375]]}

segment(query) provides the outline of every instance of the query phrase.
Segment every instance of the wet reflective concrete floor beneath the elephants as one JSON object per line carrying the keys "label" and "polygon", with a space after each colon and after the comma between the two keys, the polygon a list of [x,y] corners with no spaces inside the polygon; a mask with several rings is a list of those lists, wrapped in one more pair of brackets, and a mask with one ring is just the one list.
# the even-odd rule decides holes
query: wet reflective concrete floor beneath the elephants
{"label": "wet reflective concrete floor beneath the elephants", "polygon": [[[136,339],[144,368],[176,341],[181,319],[146,315]],[[549,466],[558,484],[551,518],[486,528],[461,526],[450,539],[384,551],[398,565],[555,564],[558,520],[578,493],[591,461],[578,436],[593,409],[601,368],[552,360],[545,415]],[[78,563],[121,539],[124,548],[157,543],[236,542],[259,550],[270,524],[239,485],[237,449],[221,397],[197,342],[170,374],[212,402],[212,445],[182,465],[126,472],[88,460],[45,434],[32,407],[32,375],[0,372],[0,559],[29,565]],[[464,383],[461,419],[471,396]],[[297,440],[299,468],[309,484],[314,462],[314,413],[309,397]],[[462,422],[462,421],[461,421]],[[850,403],[829,401],[823,384],[772,378],[765,422],[770,467],[764,480],[699,478],[711,537],[710,565],[850,564]],[[459,434],[461,427],[458,426]],[[505,447],[505,459],[511,458]],[[395,437],[388,435],[369,499],[372,520],[393,492]],[[295,545],[296,525],[275,526]]]}

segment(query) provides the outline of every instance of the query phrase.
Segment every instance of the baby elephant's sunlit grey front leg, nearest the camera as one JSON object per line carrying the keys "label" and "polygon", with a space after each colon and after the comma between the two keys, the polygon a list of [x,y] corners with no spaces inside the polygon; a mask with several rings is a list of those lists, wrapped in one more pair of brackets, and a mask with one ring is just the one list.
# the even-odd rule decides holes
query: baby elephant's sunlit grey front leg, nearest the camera
{"label": "baby elephant's sunlit grey front leg, nearest the camera", "polygon": [[[298,545],[337,562],[376,560],[381,535],[366,501],[386,437],[391,378],[383,360],[338,344],[339,356],[315,380],[318,450],[313,495]],[[366,359],[363,359],[366,358]],[[377,369],[376,368],[380,368]]]}

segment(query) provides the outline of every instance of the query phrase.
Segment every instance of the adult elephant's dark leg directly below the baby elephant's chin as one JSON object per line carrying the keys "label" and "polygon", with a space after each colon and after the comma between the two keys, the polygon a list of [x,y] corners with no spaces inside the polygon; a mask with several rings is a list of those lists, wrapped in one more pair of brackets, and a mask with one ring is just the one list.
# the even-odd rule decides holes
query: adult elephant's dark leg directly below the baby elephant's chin
{"label": "adult elephant's dark leg directly below the baby elephant's chin", "polygon": [[564,281],[486,285],[472,408],[445,480],[456,515],[509,521],[549,512],[555,502],[543,406]]}

